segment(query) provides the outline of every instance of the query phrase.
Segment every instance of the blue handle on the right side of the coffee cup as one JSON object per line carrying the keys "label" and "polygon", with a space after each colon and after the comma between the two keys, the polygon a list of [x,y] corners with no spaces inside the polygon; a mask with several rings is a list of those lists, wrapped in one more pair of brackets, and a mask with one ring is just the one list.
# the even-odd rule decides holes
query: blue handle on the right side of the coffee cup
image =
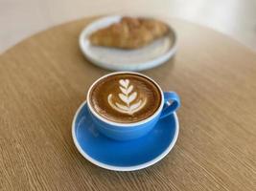
{"label": "blue handle on the right side of the coffee cup", "polygon": [[179,106],[180,99],[175,92],[164,92],[164,106],[160,118],[173,114]]}

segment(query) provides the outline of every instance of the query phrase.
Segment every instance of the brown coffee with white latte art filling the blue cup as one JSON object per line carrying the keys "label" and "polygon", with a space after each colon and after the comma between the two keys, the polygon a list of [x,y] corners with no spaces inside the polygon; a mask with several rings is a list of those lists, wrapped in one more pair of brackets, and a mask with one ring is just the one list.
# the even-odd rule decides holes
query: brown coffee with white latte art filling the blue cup
{"label": "brown coffee with white latte art filling the blue cup", "polygon": [[161,104],[161,92],[139,74],[112,74],[100,79],[89,93],[93,110],[105,119],[133,123],[151,117]]}

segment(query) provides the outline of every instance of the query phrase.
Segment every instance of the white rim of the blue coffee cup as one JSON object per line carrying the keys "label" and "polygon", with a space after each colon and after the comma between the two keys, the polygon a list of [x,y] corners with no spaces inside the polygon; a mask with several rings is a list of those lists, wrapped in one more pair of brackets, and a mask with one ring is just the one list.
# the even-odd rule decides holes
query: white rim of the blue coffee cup
{"label": "white rim of the blue coffee cup", "polygon": [[[94,111],[94,108],[91,106],[90,103],[90,93],[92,88],[95,86],[95,84],[97,84],[100,80],[104,79],[107,76],[110,75],[114,75],[114,74],[137,74],[140,76],[143,76],[149,80],[151,80],[151,82],[158,88],[160,94],[161,94],[161,103],[158,107],[158,109],[154,112],[153,115],[151,115],[151,117],[145,118],[143,120],[137,121],[137,122],[131,122],[131,123],[120,123],[120,122],[115,122],[115,121],[111,121],[106,119],[105,117],[101,117],[96,111]],[[145,124],[149,121],[151,121],[151,119],[153,119],[154,117],[158,116],[159,113],[161,113],[163,105],[164,105],[164,94],[162,89],[160,88],[160,86],[158,85],[158,83],[156,83],[153,79],[151,79],[151,77],[145,75],[145,74],[140,74],[140,73],[135,73],[135,72],[129,72],[129,71],[123,71],[123,72],[114,72],[114,73],[110,73],[110,74],[105,74],[102,77],[98,78],[96,81],[93,82],[93,84],[90,86],[88,92],[87,92],[87,96],[86,96],[86,100],[87,100],[87,106],[88,109],[90,111],[90,113],[94,116],[97,117],[98,119],[104,121],[105,123],[109,124],[109,125],[113,125],[113,126],[119,126],[119,127],[132,127],[132,126],[138,126],[138,125],[142,125]]]}

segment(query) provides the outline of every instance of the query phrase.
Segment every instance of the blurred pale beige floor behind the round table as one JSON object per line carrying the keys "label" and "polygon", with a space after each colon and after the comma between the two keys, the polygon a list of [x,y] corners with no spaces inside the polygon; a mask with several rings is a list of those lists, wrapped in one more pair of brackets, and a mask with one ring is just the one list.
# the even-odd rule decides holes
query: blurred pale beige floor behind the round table
{"label": "blurred pale beige floor behind the round table", "polygon": [[106,13],[186,19],[228,34],[256,51],[256,0],[0,0],[0,53],[35,32]]}

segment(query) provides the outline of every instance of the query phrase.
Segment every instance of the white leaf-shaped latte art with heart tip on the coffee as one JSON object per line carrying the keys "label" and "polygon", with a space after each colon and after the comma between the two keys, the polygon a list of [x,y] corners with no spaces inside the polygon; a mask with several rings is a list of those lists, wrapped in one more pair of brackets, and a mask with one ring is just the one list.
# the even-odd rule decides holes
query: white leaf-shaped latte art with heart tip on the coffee
{"label": "white leaf-shaped latte art with heart tip on the coffee", "polygon": [[[138,101],[134,102],[134,100],[137,98],[138,93],[133,92],[133,85],[130,85],[128,79],[120,79],[119,80],[119,89],[121,91],[120,94],[118,94],[121,103],[113,102],[112,101],[112,94],[109,94],[107,96],[108,104],[116,111],[132,115],[135,112],[140,111],[147,103],[147,98],[145,99],[139,99]],[[134,102],[134,103],[133,103]]]}

